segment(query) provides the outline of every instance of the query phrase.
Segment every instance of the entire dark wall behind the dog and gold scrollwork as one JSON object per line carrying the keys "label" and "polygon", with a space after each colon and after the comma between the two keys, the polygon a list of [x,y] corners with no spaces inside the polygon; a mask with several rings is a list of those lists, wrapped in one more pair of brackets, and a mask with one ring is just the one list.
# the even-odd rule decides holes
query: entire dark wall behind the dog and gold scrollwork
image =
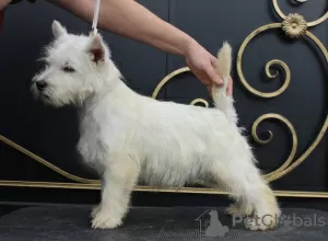
{"label": "entire dark wall behind the dog and gold scrollwork", "polygon": [[[241,125],[244,125],[250,135],[250,127],[259,116],[267,113],[283,115],[295,127],[298,140],[295,159],[301,157],[315,139],[327,115],[328,67],[317,47],[309,41],[291,41],[280,28],[267,31],[249,43],[243,57],[243,71],[248,83],[255,89],[263,92],[274,91],[283,83],[285,77],[283,71],[272,80],[266,77],[265,66],[271,59],[283,60],[291,70],[292,78],[288,90],[273,99],[251,95],[243,87],[236,72],[237,51],[247,35],[265,24],[281,22],[274,13],[271,0],[139,2],[163,20],[190,34],[213,55],[216,55],[224,41],[229,41],[234,49],[232,76],[235,81],[234,96]],[[301,5],[292,3],[294,1],[278,2],[284,13],[297,12],[307,21],[318,19],[328,8],[326,0],[308,1]],[[59,20],[70,32],[90,31],[87,23],[45,1],[11,5],[5,12],[3,31],[0,35],[0,135],[72,174],[96,177],[81,164],[75,152],[79,138],[75,110],[46,107],[33,100],[28,89],[31,78],[40,68],[35,60],[42,47],[51,39],[50,25],[54,19]],[[328,45],[327,25],[328,21],[309,28],[325,46]],[[141,94],[151,95],[161,79],[171,71],[185,67],[181,57],[167,55],[113,33],[104,31],[102,33],[112,48],[114,61],[128,84]],[[272,68],[272,72],[276,69]],[[189,104],[197,97],[210,102],[206,88],[199,80],[191,73],[185,73],[174,78],[161,91],[157,99]],[[263,122],[258,133],[266,138],[268,129],[274,134],[272,141],[266,146],[254,144],[259,165],[266,173],[278,169],[286,160],[292,148],[291,135],[285,125],[277,120]],[[250,140],[253,141],[251,138]],[[328,191],[327,146],[326,135],[307,160],[286,176],[273,182],[273,187]],[[0,180],[68,181],[2,144],[0,144]],[[22,200],[22,195],[17,195],[15,188],[0,188],[0,192],[2,192],[0,200],[2,198]],[[24,192],[23,196],[33,191]],[[38,191],[38,194],[31,194],[32,197],[28,198],[42,202],[46,192]],[[83,198],[83,202],[87,202],[94,198],[93,194],[83,191],[65,191],[60,197],[58,193],[61,192],[56,191],[57,199],[59,198],[61,203],[80,202]],[[68,197],[68,193],[72,195],[79,193],[79,197]],[[137,195],[142,199],[143,194]]]}

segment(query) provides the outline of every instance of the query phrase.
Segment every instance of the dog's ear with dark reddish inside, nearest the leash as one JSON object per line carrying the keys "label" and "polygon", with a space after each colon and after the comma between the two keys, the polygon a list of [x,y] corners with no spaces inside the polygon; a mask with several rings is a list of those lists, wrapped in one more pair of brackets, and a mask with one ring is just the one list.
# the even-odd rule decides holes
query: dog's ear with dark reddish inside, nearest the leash
{"label": "dog's ear with dark reddish inside, nearest the leash", "polygon": [[86,51],[91,55],[91,58],[95,64],[105,61],[106,46],[99,34],[90,36],[90,42],[86,47]]}

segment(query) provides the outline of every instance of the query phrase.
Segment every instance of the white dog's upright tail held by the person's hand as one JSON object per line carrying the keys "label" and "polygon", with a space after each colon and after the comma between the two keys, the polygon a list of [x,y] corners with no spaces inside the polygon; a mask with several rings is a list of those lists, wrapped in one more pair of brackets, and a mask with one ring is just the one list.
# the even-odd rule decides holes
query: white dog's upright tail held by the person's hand
{"label": "white dog's upright tail held by the person's hand", "polygon": [[222,48],[218,53],[216,72],[223,79],[223,85],[212,85],[212,96],[216,108],[225,113],[230,122],[237,124],[237,114],[234,108],[233,96],[226,95],[226,89],[230,81],[232,69],[232,48],[227,42],[223,43]]}

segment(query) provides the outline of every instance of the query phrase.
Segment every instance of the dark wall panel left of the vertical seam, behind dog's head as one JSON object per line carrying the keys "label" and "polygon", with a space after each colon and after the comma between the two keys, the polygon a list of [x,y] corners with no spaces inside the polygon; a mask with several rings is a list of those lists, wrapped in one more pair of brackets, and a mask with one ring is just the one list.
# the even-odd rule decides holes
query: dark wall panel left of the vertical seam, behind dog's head
{"label": "dark wall panel left of the vertical seam, behind dog's head", "polygon": [[[141,4],[167,21],[168,2],[142,0]],[[52,110],[33,100],[31,78],[42,67],[36,59],[51,41],[51,23],[59,20],[69,32],[90,32],[90,24],[46,1],[22,2],[5,11],[0,36],[0,134],[55,165],[77,175],[95,177],[78,160],[78,119],[73,107]],[[151,95],[166,74],[166,53],[101,31],[127,83]],[[0,179],[65,180],[12,148],[0,145]],[[3,164],[5,160],[5,164]],[[19,168],[17,168],[19,167]],[[16,170],[14,173],[8,170]]]}

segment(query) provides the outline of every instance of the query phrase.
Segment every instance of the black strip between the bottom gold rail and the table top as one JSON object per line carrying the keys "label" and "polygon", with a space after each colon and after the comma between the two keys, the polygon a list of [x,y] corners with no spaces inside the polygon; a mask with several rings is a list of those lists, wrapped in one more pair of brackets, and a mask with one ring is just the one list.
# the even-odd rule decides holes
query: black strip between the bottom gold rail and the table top
{"label": "black strip between the bottom gold rail and the table top", "polygon": [[[2,190],[1,194],[4,194]],[[56,192],[54,191],[56,194]],[[54,198],[56,195],[51,195],[50,199],[34,198],[35,195],[22,195],[16,200],[23,202],[9,202],[0,197],[0,217],[12,210],[16,210],[23,207],[35,206],[51,206],[57,204],[81,204],[81,205],[95,205],[98,203],[98,194],[79,196],[70,199],[69,196],[63,194],[58,195],[60,198]],[[35,192],[34,192],[35,194]],[[27,196],[27,197],[26,197]],[[22,198],[24,197],[24,198]],[[89,197],[89,198],[87,198]],[[92,197],[92,198],[90,198]],[[279,204],[283,208],[312,208],[328,211],[327,198],[295,198],[295,197],[279,197]],[[37,202],[37,203],[36,203]],[[40,203],[42,202],[42,203]],[[174,207],[174,206],[215,206],[226,207],[230,205],[230,200],[226,196],[222,195],[197,195],[197,194],[172,194],[172,193],[134,193],[132,197],[132,206],[145,206],[145,207]]]}

